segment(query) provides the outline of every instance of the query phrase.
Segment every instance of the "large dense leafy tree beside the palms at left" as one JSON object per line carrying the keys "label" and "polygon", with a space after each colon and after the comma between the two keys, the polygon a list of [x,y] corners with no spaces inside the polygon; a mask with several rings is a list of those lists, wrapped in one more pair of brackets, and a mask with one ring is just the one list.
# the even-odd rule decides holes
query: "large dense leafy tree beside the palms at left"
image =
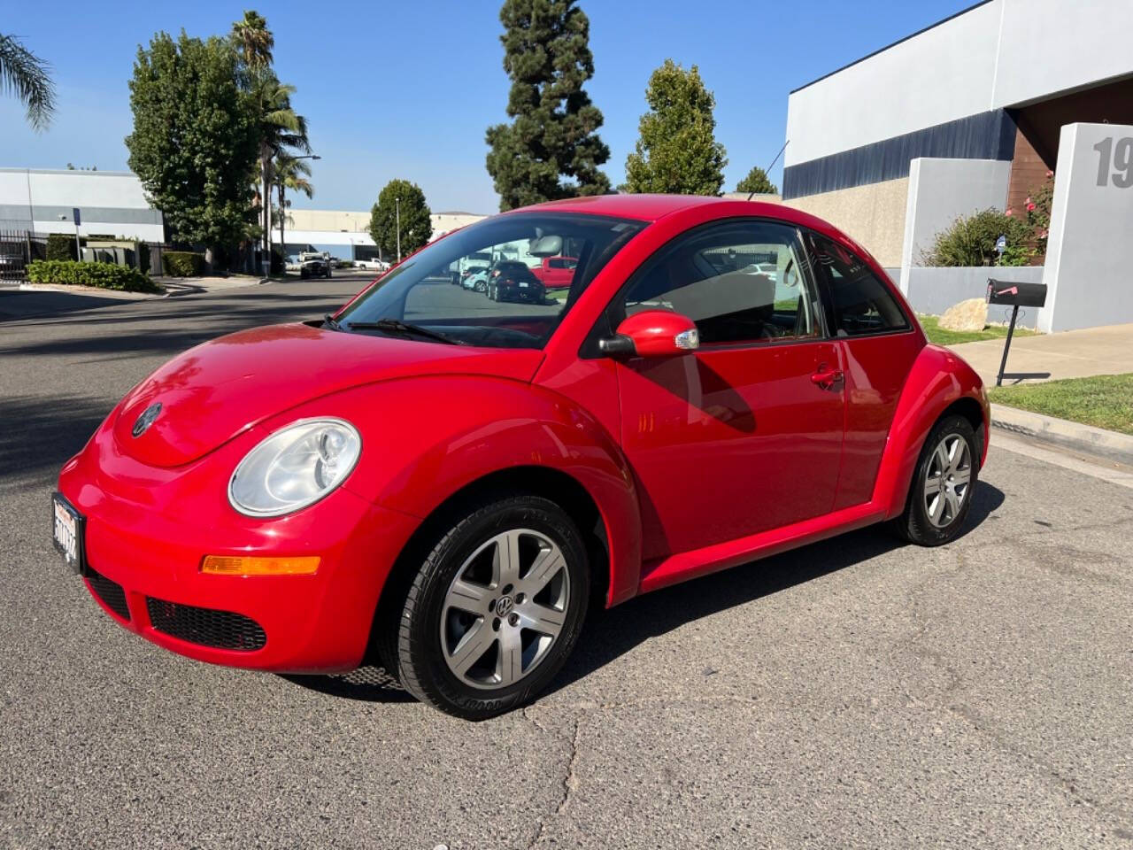
{"label": "large dense leafy tree beside the palms at left", "polygon": [[129,167],[173,240],[204,245],[212,262],[252,221],[257,125],[237,84],[236,54],[218,37],[157,33],[138,48],[129,87]]}

